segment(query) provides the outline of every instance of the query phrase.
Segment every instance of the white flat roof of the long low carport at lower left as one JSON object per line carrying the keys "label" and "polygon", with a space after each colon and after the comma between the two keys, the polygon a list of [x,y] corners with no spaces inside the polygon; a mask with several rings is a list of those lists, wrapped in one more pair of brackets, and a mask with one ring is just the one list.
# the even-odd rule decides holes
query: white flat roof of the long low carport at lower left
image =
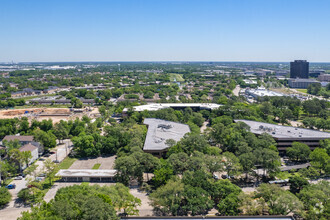
{"label": "white flat roof of the long low carport at lower left", "polygon": [[61,177],[114,177],[117,170],[61,169],[56,176]]}

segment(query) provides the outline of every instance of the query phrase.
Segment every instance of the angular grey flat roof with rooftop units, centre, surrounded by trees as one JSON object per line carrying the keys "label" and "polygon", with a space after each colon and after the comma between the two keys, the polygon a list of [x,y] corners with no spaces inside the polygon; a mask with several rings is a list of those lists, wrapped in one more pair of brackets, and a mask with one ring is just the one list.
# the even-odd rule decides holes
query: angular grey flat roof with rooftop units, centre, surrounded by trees
{"label": "angular grey flat roof with rooftop units, centre, surrounded by trees", "polygon": [[165,150],[168,148],[165,144],[166,140],[180,141],[186,133],[190,132],[188,125],[156,118],[146,118],[144,124],[148,125],[148,132],[143,150]]}

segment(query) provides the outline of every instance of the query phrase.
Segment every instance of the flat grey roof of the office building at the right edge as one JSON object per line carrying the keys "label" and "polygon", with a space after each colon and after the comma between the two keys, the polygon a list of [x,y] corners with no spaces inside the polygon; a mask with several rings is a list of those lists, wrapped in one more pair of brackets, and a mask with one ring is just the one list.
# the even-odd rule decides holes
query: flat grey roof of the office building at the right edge
{"label": "flat grey roof of the office building at the right edge", "polygon": [[254,134],[267,133],[279,140],[319,140],[330,138],[330,133],[312,129],[275,125],[250,120],[235,120],[235,122],[244,122],[250,127],[250,131]]}

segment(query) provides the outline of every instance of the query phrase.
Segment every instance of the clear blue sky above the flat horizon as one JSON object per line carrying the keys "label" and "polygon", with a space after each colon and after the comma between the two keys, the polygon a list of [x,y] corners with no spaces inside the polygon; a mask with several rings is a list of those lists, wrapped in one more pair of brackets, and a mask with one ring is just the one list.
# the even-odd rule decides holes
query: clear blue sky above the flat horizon
{"label": "clear blue sky above the flat horizon", "polygon": [[0,62],[330,62],[329,0],[1,0]]}

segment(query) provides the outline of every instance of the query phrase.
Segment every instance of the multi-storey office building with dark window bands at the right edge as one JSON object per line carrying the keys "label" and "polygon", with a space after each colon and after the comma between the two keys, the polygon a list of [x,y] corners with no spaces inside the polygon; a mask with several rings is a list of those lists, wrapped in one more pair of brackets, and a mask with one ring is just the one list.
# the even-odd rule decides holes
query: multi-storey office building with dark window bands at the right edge
{"label": "multi-storey office building with dark window bands at the right edge", "polygon": [[311,149],[315,149],[320,145],[320,140],[330,138],[330,133],[317,130],[250,120],[235,120],[235,122],[244,122],[250,127],[250,131],[256,135],[262,133],[270,134],[277,142],[277,149],[279,151],[284,151],[287,147],[292,146],[292,142],[301,142],[307,144]]}

